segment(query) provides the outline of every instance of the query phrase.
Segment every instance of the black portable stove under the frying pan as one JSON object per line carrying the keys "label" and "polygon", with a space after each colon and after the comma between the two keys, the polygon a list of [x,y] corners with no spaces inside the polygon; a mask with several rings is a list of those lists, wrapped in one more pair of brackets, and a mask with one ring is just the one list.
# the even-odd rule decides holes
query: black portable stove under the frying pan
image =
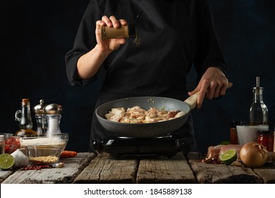
{"label": "black portable stove under the frying pan", "polygon": [[106,152],[111,156],[175,156],[183,151],[181,136],[167,135],[150,138],[134,138],[126,136],[108,136],[94,142],[98,153]]}

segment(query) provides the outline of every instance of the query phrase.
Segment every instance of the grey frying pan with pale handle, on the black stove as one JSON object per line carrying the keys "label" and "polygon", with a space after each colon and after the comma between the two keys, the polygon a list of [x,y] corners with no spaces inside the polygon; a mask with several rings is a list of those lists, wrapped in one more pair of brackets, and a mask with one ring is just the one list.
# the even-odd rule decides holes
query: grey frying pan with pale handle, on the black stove
{"label": "grey frying pan with pale handle, on the black stove", "polygon": [[[227,88],[231,86],[232,83],[228,83]],[[197,95],[198,93],[195,93],[194,95],[187,98],[184,102],[173,98],[154,96],[123,98],[100,105],[95,110],[95,114],[99,123],[102,124],[102,127],[113,134],[139,138],[161,136],[181,128],[183,124],[187,122],[190,115],[190,110],[193,110],[196,106]],[[150,107],[167,111],[180,110],[186,112],[186,114],[173,120],[167,120],[164,122],[138,124],[114,122],[111,120],[107,120],[104,117],[104,115],[108,113],[111,108],[124,107],[125,109],[127,109],[128,107],[134,106],[140,106],[144,110],[149,110]]]}

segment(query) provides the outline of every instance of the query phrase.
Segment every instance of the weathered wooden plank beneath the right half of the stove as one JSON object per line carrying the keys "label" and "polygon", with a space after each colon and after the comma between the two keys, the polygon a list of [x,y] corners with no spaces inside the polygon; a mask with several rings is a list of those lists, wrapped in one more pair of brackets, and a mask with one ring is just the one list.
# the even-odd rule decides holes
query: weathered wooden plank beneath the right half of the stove
{"label": "weathered wooden plank beneath the right half of the stove", "polygon": [[195,176],[183,153],[171,158],[142,157],[137,183],[195,183]]}

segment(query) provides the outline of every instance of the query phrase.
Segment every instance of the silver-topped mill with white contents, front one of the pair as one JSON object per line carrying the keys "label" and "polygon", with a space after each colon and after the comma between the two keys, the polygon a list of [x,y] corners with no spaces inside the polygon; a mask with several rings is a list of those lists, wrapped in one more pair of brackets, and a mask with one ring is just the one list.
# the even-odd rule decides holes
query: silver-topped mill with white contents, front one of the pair
{"label": "silver-topped mill with white contents, front one of the pair", "polygon": [[47,132],[46,136],[51,136],[51,134],[61,134],[60,130],[60,120],[61,120],[61,112],[62,106],[58,104],[50,104],[44,107],[44,112],[46,113],[47,118]]}

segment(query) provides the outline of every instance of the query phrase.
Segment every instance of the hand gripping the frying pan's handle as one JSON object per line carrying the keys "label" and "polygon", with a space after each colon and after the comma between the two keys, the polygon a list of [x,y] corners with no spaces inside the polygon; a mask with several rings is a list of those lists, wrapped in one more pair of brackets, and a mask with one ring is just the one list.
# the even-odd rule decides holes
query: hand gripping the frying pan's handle
{"label": "hand gripping the frying pan's handle", "polygon": [[200,108],[202,107],[204,98],[212,99],[225,95],[227,83],[228,79],[224,75],[224,72],[219,68],[209,67],[202,75],[195,90],[190,91],[188,94],[199,93],[197,96],[197,108]]}

